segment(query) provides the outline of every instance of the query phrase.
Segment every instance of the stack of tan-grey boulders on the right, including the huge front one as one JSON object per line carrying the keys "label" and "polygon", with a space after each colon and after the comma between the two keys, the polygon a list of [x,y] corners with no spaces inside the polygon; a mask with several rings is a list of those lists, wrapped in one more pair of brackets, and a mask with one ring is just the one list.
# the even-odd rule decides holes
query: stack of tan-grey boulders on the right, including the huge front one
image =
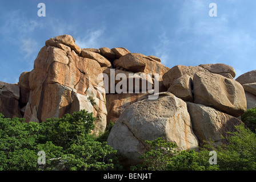
{"label": "stack of tan-grey boulders on the right, including the huge front one", "polygon": [[162,77],[167,92],[126,107],[107,142],[128,166],[141,162],[145,140],[162,137],[178,150],[197,148],[210,139],[224,142],[222,136],[241,123],[237,117],[246,111],[245,91],[234,77],[234,69],[225,64],[171,68]]}

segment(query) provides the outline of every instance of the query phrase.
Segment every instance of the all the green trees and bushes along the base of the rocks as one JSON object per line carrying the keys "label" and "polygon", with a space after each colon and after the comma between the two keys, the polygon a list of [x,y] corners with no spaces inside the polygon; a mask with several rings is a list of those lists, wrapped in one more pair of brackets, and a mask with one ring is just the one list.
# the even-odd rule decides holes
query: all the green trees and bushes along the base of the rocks
{"label": "all the green trees and bushes along the base of the rocks", "polygon": [[[175,143],[163,138],[146,141],[142,164],[132,170],[231,171],[256,170],[256,108],[242,115],[245,124],[227,133],[227,143],[215,146],[206,142],[197,150],[178,151]],[[106,144],[113,122],[105,133],[91,134],[92,113],[85,110],[66,114],[47,122],[23,122],[22,118],[4,118],[0,113],[1,170],[110,170],[122,169],[117,151]],[[39,151],[46,154],[46,164],[38,164]],[[210,151],[217,154],[217,164],[210,164]]]}

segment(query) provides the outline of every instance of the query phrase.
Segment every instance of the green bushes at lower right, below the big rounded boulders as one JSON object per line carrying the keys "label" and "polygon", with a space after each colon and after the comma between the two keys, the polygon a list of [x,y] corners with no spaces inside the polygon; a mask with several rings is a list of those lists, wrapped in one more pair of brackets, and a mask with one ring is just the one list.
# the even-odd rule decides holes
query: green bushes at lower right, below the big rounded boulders
{"label": "green bushes at lower right, below the big rounded boulders", "polygon": [[[227,144],[215,146],[205,144],[198,151],[175,151],[174,143],[162,138],[146,141],[149,150],[141,156],[142,164],[131,167],[133,170],[256,170],[256,135],[243,124],[235,126],[229,133]],[[209,152],[217,152],[217,164],[209,163]]]}

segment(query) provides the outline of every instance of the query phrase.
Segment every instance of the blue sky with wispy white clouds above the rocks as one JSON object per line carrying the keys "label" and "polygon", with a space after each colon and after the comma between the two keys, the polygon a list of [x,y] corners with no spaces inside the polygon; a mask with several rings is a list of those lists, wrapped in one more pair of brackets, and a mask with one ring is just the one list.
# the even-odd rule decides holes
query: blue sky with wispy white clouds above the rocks
{"label": "blue sky with wispy white clouds above the rocks", "polygon": [[[0,1],[0,81],[14,84],[45,41],[69,34],[81,48],[125,47],[175,65],[256,69],[255,0]],[[39,17],[38,3],[46,16]],[[210,3],[217,17],[209,16]]]}

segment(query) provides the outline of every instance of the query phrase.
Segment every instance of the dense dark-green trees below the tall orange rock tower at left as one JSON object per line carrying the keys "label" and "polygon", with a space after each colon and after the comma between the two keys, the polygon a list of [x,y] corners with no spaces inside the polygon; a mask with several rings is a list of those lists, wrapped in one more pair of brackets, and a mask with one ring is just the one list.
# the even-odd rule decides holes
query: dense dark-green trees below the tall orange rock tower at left
{"label": "dense dark-green trees below the tall orange rock tower at left", "polygon": [[[0,114],[0,170],[113,168],[117,151],[90,134],[94,120],[85,110],[43,123]],[[39,151],[46,154],[45,165],[38,164]]]}

